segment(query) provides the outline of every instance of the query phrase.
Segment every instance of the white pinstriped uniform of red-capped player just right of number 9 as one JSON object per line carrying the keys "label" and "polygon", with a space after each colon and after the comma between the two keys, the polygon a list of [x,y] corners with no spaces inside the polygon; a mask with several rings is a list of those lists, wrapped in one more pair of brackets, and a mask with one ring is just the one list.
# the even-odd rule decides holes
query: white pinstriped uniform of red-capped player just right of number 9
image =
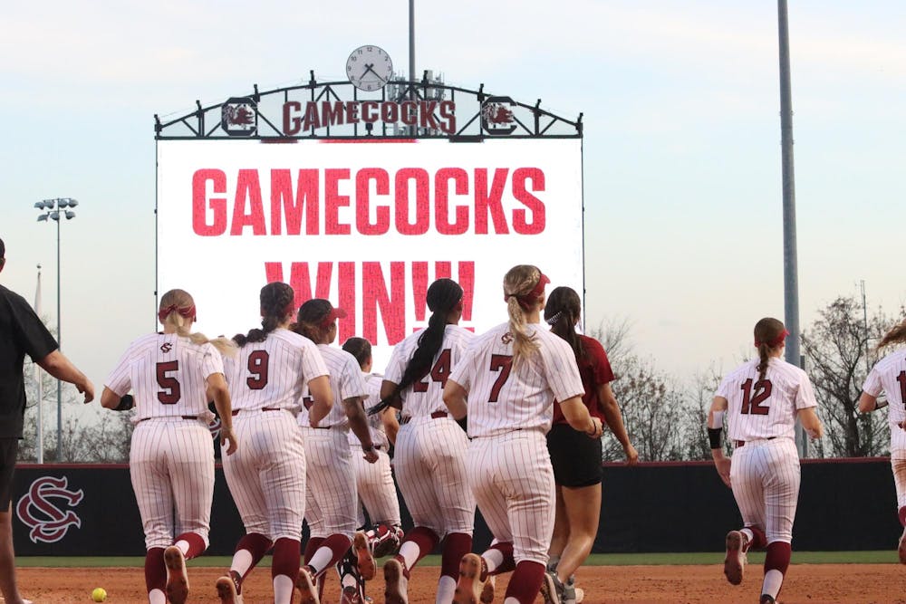
{"label": "white pinstriped uniform of red-capped player just right of number 9", "polygon": [[[365,397],[368,389],[365,388],[359,363],[349,352],[327,344],[318,344],[318,350],[330,372],[333,407],[317,428],[309,424],[307,408],[299,414],[308,479],[305,520],[312,537],[340,533],[352,539],[357,526],[358,494],[347,436],[349,421],[342,401]],[[305,406],[310,406],[307,388],[304,394]]]}

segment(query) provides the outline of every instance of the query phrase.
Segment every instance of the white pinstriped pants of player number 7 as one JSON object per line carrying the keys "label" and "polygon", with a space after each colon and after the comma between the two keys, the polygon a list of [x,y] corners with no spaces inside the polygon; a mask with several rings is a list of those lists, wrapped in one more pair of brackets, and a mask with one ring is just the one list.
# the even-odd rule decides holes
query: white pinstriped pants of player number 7
{"label": "white pinstriped pants of player number 7", "polygon": [[497,541],[513,542],[516,563],[547,564],[554,534],[554,469],[541,430],[473,438],[469,484]]}

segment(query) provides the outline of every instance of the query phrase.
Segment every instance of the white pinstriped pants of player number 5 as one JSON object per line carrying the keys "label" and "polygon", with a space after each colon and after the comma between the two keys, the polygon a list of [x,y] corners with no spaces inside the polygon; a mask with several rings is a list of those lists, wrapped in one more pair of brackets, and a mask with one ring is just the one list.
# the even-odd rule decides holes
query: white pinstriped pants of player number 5
{"label": "white pinstriped pants of player number 5", "polygon": [[183,532],[205,540],[214,500],[214,442],[207,425],[181,417],[139,422],[129,453],[145,547],[168,547]]}

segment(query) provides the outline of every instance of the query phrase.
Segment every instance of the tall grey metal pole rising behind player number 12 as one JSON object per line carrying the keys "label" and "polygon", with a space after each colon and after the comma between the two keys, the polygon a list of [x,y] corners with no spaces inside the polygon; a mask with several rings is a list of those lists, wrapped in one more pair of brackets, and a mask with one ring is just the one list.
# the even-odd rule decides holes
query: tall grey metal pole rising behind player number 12
{"label": "tall grey metal pole rising behind player number 12", "polygon": [[[799,364],[799,277],[795,245],[795,177],[793,173],[793,101],[790,86],[790,45],[786,0],[777,0],[780,38],[780,130],[784,196],[784,315],[786,362]],[[796,423],[796,445],[800,454],[808,455],[808,441],[802,425]]]}

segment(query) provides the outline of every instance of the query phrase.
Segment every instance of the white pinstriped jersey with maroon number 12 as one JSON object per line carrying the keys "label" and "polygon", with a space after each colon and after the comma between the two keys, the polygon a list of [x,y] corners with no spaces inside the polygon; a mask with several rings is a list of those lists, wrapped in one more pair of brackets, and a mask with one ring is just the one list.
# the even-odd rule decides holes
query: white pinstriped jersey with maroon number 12
{"label": "white pinstriped jersey with maroon number 12", "polygon": [[768,360],[758,379],[759,360],[749,360],[720,382],[715,396],[728,401],[728,436],[733,440],[795,437],[796,411],[817,407],[805,371],[786,360]]}

